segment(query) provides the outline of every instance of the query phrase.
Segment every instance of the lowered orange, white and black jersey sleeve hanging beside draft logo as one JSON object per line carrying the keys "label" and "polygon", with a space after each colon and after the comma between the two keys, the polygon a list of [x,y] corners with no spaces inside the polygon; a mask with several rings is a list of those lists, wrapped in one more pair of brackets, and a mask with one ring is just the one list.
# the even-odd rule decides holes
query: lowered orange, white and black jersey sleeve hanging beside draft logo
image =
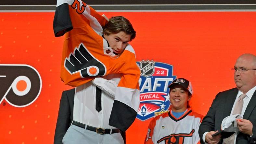
{"label": "lowered orange, white and black jersey sleeve hanging beside draft logo", "polygon": [[115,93],[109,125],[125,131],[134,122],[140,104],[140,69],[134,53],[125,50],[120,58],[123,61],[117,73],[122,73],[122,77]]}

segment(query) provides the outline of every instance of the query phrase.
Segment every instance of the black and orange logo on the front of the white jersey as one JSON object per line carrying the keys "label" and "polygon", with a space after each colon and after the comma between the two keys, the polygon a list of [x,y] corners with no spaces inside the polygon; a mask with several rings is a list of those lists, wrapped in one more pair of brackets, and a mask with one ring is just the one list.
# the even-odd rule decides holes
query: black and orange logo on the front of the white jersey
{"label": "black and orange logo on the front of the white jersey", "polygon": [[161,141],[164,141],[165,144],[184,144],[185,137],[192,137],[193,133],[195,132],[195,129],[192,129],[190,133],[179,133],[179,134],[171,134],[169,136],[165,136],[157,141],[157,143],[160,143]]}

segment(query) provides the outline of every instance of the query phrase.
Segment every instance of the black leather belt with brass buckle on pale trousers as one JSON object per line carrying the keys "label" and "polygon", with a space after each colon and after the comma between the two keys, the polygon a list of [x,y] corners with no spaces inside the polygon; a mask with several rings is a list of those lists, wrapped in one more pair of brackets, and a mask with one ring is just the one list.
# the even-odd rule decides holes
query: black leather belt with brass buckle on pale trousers
{"label": "black leather belt with brass buckle on pale trousers", "polygon": [[[83,129],[86,126],[85,124],[74,121],[74,120],[72,122],[72,125],[78,126],[80,128],[83,128]],[[90,131],[95,131],[97,134],[101,134],[101,135],[110,134],[110,129],[95,128],[95,127],[91,127],[91,126],[88,126],[88,125],[87,125],[86,129],[88,129]],[[111,133],[118,133],[118,132],[121,132],[121,130],[120,129],[112,129]]]}

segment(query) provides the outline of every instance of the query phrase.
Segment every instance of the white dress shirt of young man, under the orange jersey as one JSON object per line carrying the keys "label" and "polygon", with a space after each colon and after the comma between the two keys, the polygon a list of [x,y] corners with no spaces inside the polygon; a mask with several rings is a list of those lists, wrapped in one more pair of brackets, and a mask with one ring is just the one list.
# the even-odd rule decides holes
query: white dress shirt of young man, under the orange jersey
{"label": "white dress shirt of young man, under the orange jersey", "polygon": [[[96,128],[115,129],[115,127],[109,126],[109,117],[120,77],[120,74],[104,76],[106,79],[96,77],[93,81],[76,87],[73,111],[74,120]],[[102,109],[100,112],[95,109],[96,86],[102,90]]]}

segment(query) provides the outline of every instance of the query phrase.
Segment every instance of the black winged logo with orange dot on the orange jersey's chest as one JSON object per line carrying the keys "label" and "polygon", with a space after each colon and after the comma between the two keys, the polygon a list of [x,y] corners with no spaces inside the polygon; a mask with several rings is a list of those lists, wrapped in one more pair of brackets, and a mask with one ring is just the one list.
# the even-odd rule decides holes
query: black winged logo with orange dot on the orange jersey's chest
{"label": "black winged logo with orange dot on the orange jersey's chest", "polygon": [[81,77],[103,76],[106,66],[94,57],[89,50],[80,43],[74,52],[65,58],[64,66],[70,74],[79,72]]}

